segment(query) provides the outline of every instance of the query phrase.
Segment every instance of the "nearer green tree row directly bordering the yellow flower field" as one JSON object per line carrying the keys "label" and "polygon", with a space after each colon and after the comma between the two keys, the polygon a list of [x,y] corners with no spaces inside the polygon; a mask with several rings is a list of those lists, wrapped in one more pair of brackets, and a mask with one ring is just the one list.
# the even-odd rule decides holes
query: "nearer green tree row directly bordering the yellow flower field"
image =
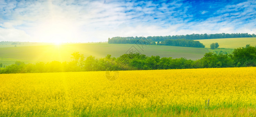
{"label": "nearer green tree row directly bordering the yellow flower field", "polygon": [[199,60],[186,58],[171,58],[151,56],[139,53],[129,53],[120,57],[107,55],[104,58],[89,56],[85,58],[79,52],[72,54],[71,62],[38,62],[25,64],[16,61],[15,64],[0,69],[0,73],[48,73],[71,71],[114,71],[114,70],[153,70],[153,69],[191,69],[219,67],[249,67],[256,66],[256,47],[247,45],[234,49],[232,54],[206,53]]}

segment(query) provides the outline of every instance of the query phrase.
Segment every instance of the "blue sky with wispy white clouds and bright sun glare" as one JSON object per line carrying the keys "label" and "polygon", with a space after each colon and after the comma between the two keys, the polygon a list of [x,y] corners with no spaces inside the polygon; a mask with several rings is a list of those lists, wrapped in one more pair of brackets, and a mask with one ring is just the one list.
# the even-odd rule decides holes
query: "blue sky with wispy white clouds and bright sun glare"
{"label": "blue sky with wispy white clouds and bright sun glare", "polygon": [[256,34],[256,0],[0,0],[0,41]]}

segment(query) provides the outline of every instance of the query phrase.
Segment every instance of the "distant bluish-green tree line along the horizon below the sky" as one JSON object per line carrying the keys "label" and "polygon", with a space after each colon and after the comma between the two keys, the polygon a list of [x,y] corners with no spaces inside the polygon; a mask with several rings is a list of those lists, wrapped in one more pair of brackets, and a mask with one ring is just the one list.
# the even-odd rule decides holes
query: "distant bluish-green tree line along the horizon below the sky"
{"label": "distant bluish-green tree line along the horizon below the sky", "polygon": [[164,41],[166,39],[219,39],[219,38],[242,38],[242,37],[256,37],[255,34],[248,33],[232,33],[232,34],[191,34],[191,35],[169,35],[169,36],[148,36],[148,37],[112,37],[108,38],[108,43],[115,44],[134,44],[138,39],[146,39],[149,42]]}

